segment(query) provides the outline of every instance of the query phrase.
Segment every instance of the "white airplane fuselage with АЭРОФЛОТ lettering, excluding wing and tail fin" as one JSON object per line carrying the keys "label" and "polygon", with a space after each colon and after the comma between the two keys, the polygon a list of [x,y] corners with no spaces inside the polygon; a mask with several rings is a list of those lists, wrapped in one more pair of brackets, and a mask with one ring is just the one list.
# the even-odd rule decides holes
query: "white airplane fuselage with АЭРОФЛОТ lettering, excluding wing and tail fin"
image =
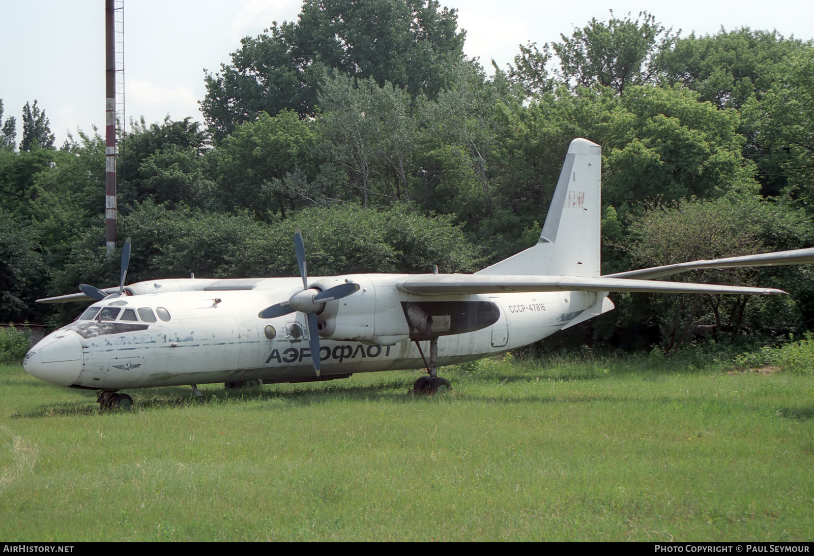
{"label": "white airplane fuselage with \u0410\u042d\u0420\u041e\u0424\u041b\u041e\u0422 lettering, excluding wing and tail fin", "polygon": [[[341,280],[361,285],[357,293],[326,303],[320,312],[322,380],[427,367],[429,341],[409,324],[411,305],[429,314],[454,313],[453,330],[438,339],[438,364],[450,365],[548,337],[599,296],[593,292],[495,293],[428,301],[427,296],[399,291],[396,283],[404,278],[367,274],[311,280],[313,285],[329,286]],[[258,315],[262,308],[302,289],[299,278],[247,280],[251,285],[235,289],[205,289],[208,280],[173,282],[183,286],[173,289],[186,291],[168,292],[166,286],[133,288],[155,293],[93,303],[77,320],[28,352],[26,371],[53,384],[103,390],[317,380],[304,314],[293,312],[274,319]],[[488,315],[484,306],[490,309]],[[477,311],[480,316],[474,315]],[[460,325],[455,323],[465,321],[468,328],[477,329],[457,332],[454,328]]]}

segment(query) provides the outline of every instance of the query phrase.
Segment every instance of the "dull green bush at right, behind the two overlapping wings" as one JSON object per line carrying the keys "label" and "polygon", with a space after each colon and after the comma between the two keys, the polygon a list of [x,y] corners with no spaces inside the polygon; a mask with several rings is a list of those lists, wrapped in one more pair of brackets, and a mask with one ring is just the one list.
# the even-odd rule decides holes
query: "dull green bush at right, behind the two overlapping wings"
{"label": "dull green bush at right, behind the two overlapping wings", "polygon": [[[803,211],[759,198],[735,196],[652,207],[632,222],[630,232],[624,246],[635,267],[795,249],[814,239],[814,229]],[[707,284],[772,285],[793,293],[806,292],[809,297],[811,292],[810,271],[801,267],[694,271],[694,276],[680,275],[676,279]],[[715,335],[737,334],[746,329],[772,335],[799,331],[805,309],[794,298],[782,296],[758,299],[654,295],[639,301],[648,302],[650,311],[638,312],[659,322],[667,352],[678,350],[694,331],[710,331]],[[747,302],[751,311],[747,311]],[[704,326],[699,328],[698,324]]]}

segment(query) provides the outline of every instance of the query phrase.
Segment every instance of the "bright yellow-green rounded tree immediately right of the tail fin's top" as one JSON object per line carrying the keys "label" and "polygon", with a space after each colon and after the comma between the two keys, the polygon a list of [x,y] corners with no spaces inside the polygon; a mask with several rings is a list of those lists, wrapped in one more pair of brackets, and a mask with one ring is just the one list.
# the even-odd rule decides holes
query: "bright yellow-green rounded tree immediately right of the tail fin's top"
{"label": "bright yellow-green rounded tree immediately right of the tail fin's top", "polygon": [[681,85],[632,86],[624,97],[584,91],[580,119],[602,145],[602,198],[616,207],[646,201],[757,191],[743,158],[736,111],[698,102]]}

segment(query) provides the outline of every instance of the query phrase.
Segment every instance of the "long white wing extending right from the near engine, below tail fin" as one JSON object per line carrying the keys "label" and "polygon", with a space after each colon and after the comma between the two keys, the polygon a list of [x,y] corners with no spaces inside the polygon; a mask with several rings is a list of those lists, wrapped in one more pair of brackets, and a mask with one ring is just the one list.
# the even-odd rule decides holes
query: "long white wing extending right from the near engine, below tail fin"
{"label": "long white wing extending right from the near engine, below tail fin", "polygon": [[506,292],[645,292],[645,293],[730,293],[782,295],[782,289],[750,288],[689,282],[661,282],[600,276],[517,276],[470,274],[422,274],[401,280],[396,287],[405,293],[466,294]]}

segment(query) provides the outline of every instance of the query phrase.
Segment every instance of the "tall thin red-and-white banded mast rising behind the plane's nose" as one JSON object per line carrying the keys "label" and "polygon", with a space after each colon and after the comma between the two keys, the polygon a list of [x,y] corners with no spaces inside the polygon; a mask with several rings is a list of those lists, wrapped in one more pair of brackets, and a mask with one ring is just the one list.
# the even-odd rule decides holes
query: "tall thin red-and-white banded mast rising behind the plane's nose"
{"label": "tall thin red-and-white banded mast rising behind the plane's nose", "polygon": [[116,46],[113,0],[105,0],[105,245],[116,250]]}

